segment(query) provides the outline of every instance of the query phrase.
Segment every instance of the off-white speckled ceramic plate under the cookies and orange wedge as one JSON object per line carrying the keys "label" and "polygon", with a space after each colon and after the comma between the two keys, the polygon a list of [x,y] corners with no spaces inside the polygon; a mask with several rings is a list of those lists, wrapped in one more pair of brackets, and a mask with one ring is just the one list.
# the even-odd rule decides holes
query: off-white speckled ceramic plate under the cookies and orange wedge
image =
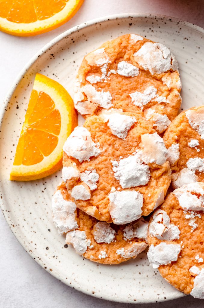
{"label": "off-white speckled ceramic plate under the cookies and orange wedge", "polygon": [[122,14],[86,22],[59,35],[35,55],[18,76],[1,106],[1,208],[12,232],[45,270],[68,286],[112,301],[147,303],[183,296],[149,264],[145,252],[120,265],[100,265],[64,248],[52,222],[51,196],[61,172],[32,182],[12,182],[9,173],[35,73],[61,83],[72,95],[83,56],[108,39],[137,33],[164,43],[175,54],[183,84],[182,108],[201,105],[204,97],[204,30],[180,20]]}

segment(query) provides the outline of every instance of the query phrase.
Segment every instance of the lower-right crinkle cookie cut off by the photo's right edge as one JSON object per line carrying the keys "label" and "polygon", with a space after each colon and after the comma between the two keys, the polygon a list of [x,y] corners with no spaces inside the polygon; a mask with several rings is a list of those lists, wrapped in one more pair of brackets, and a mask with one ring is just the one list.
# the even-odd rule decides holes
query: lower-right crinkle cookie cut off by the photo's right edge
{"label": "lower-right crinkle cookie cut off by the photo's right edge", "polygon": [[161,276],[185,294],[204,298],[204,183],[170,193],[149,221],[147,253]]}

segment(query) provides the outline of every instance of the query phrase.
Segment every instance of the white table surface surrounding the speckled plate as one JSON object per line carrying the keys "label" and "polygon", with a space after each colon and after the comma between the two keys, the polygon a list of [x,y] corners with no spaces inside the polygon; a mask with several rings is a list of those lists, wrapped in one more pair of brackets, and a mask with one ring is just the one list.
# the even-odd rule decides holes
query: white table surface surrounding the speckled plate
{"label": "white table surface surrounding the speckled plate", "polygon": [[[0,102],[27,61],[63,31],[87,20],[117,13],[157,13],[181,18],[204,28],[202,0],[85,0],[78,13],[63,26],[35,37],[0,32]],[[41,268],[18,243],[0,211],[0,307],[4,308],[123,308],[131,304],[107,302],[71,289]],[[186,296],[177,300],[138,304],[138,308],[203,307],[202,300]]]}

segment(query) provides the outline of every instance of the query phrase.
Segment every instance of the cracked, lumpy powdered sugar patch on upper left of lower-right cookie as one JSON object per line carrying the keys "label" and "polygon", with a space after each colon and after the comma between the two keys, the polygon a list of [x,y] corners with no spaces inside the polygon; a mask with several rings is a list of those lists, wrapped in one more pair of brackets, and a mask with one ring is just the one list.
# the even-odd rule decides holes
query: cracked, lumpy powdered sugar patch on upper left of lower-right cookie
{"label": "cracked, lumpy powdered sugar patch on upper left of lower-right cookie", "polygon": [[153,214],[153,220],[149,224],[149,233],[159,240],[172,241],[179,239],[181,232],[177,226],[170,224],[170,218],[167,213],[158,209]]}

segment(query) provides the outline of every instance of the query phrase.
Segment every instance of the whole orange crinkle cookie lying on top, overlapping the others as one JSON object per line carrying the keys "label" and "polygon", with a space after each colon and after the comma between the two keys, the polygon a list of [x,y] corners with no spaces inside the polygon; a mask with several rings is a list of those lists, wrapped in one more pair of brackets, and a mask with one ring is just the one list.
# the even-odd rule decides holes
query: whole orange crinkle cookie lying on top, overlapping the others
{"label": "whole orange crinkle cookie lying on top, overlapping the others", "polygon": [[126,224],[164,201],[171,180],[167,150],[140,115],[118,109],[93,115],[75,128],[63,151],[69,193],[100,221]]}

